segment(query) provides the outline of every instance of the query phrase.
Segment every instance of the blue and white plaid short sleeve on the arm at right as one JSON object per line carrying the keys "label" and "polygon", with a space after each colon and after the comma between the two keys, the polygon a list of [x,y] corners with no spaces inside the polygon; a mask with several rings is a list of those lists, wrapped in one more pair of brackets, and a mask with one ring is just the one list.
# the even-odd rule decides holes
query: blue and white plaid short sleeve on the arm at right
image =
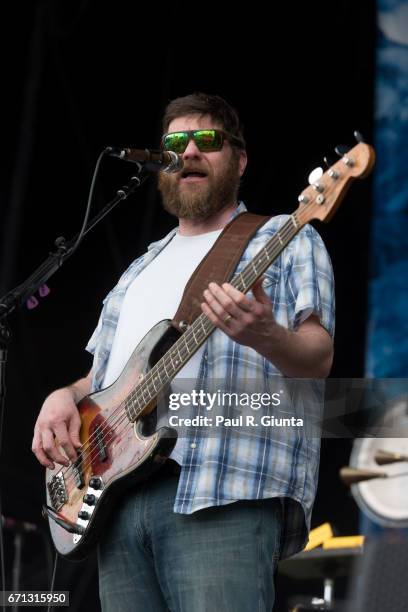
{"label": "blue and white plaid short sleeve on the arm at right", "polygon": [[323,240],[306,225],[294,238],[287,261],[289,326],[297,329],[311,314],[334,336],[333,268]]}

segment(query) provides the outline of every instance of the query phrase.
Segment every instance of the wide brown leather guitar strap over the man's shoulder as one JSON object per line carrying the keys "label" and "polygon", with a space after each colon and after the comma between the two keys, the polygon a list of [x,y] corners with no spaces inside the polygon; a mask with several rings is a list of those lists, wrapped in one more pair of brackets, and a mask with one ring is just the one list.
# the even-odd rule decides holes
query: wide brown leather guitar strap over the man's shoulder
{"label": "wide brown leather guitar strap over the man's shoulder", "polygon": [[229,281],[241,259],[248,242],[270,217],[244,212],[226,225],[213,247],[191,275],[173,317],[172,325],[185,331],[187,325],[201,314],[203,291],[210,282],[222,284]]}

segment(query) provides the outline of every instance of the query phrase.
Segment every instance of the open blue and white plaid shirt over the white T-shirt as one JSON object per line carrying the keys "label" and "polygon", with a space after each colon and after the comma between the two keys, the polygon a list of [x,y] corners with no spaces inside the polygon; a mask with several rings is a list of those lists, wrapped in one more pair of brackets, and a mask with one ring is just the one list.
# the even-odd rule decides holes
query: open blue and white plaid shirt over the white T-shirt
{"label": "open blue and white plaid shirt over the white T-shirt", "polygon": [[[241,202],[235,214],[246,210]],[[248,244],[236,273],[271,239],[287,220],[278,215],[269,220]],[[93,391],[101,388],[119,313],[126,290],[136,276],[156,257],[176,233],[152,243],[136,259],[104,300],[98,326],[87,350],[94,354]],[[334,283],[330,258],[319,234],[306,225],[268,268],[264,289],[273,303],[276,321],[296,330],[310,315],[319,317],[331,336],[334,333]],[[237,344],[220,330],[206,342],[195,388],[213,390],[214,381],[224,388],[250,380],[257,391],[275,392],[290,379],[282,378],[275,366],[253,349]],[[276,385],[279,387],[276,387]],[[310,382],[310,387],[314,385]],[[319,419],[316,402],[307,394],[292,391],[293,414]],[[287,416],[287,415],[286,415]],[[219,435],[202,436],[191,427],[183,446],[183,465],[174,511],[190,514],[202,508],[236,500],[279,497],[284,511],[281,556],[294,554],[306,543],[319,468],[319,437],[285,428],[262,427],[253,432],[219,428]],[[222,429],[222,431],[221,431]]]}

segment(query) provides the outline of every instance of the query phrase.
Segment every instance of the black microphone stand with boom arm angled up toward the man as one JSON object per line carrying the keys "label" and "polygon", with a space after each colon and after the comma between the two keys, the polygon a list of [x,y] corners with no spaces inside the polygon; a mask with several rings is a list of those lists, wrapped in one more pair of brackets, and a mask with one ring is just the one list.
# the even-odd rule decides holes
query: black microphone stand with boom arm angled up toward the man
{"label": "black microphone stand with boom arm angled up toward the man", "polygon": [[[99,221],[101,221],[119,202],[126,198],[140,187],[148,178],[149,173],[141,163],[136,163],[137,174],[130,178],[130,181],[123,185],[116,192],[116,196],[106,204],[106,206],[90,220],[87,227],[82,232],[79,232],[69,242],[66,242],[63,236],[60,236],[55,241],[56,251],[51,252],[47,259],[25,280],[0,298],[0,453],[2,449],[2,430],[5,411],[6,397],[6,365],[8,346],[11,341],[11,332],[8,324],[8,316],[15,309],[23,306],[27,300],[42,286],[46,281],[61,268],[62,264],[76,251],[77,239],[82,238],[93,229]],[[0,508],[1,513],[1,508]],[[0,522],[0,538],[2,538],[2,525]],[[4,582],[4,577],[3,577]],[[2,585],[3,590],[6,590],[6,585]]]}

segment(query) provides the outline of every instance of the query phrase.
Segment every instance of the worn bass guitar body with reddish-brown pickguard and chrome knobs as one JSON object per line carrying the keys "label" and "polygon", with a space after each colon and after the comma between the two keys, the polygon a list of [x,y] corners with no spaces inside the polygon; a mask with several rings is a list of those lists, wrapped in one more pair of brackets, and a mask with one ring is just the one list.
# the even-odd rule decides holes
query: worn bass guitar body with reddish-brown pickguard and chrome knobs
{"label": "worn bass guitar body with reddish-brown pickguard and chrome knobs", "polygon": [[[46,471],[48,508],[66,523],[84,529],[83,534],[70,533],[48,513],[51,535],[61,555],[74,560],[85,557],[101,533],[108,510],[110,520],[115,520],[117,499],[148,478],[173,450],[174,429],[149,431],[146,416],[154,411],[155,401],[134,422],[123,404],[179,335],[170,321],[157,323],[133,351],[120,377],[79,403],[83,445],[79,460],[68,468]],[[61,447],[59,450],[64,453]]]}

